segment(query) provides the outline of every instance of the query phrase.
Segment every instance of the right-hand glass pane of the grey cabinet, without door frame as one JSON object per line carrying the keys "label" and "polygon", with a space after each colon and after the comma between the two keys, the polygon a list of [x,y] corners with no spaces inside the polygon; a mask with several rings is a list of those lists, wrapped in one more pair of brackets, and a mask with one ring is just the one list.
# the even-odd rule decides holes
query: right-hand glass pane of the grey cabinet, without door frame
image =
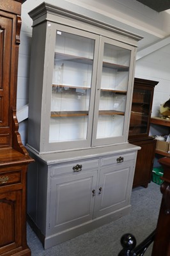
{"label": "right-hand glass pane of the grey cabinet, without door frame", "polygon": [[97,138],[123,135],[130,51],[104,44]]}

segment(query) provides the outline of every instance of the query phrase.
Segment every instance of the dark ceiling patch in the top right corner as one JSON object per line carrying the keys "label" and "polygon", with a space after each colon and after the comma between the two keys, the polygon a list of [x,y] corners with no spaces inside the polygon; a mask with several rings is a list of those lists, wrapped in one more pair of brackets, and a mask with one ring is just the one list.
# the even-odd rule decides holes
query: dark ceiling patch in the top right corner
{"label": "dark ceiling patch in the top right corner", "polygon": [[170,0],[137,0],[138,2],[150,7],[156,12],[170,9]]}

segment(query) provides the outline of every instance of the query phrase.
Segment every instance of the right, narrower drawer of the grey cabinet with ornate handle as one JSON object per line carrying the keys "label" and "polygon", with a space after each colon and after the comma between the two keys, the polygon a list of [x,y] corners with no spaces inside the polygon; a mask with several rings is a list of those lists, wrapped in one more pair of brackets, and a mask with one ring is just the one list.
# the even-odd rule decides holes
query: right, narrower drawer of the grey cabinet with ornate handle
{"label": "right, narrower drawer of the grey cabinet with ornate handle", "polygon": [[126,163],[127,161],[134,161],[135,152],[130,152],[126,154],[118,154],[114,156],[103,157],[101,159],[101,166],[107,166],[110,164],[121,164]]}

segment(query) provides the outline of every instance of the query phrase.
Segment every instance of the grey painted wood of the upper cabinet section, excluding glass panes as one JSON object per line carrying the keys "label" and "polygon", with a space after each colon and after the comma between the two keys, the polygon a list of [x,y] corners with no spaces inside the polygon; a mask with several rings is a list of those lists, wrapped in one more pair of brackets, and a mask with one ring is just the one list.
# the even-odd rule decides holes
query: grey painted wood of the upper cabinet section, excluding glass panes
{"label": "grey painted wood of the upper cabinet section, excluding glass panes", "polygon": [[[47,9],[46,9],[47,8]],[[43,12],[43,15],[41,15]],[[47,12],[47,13],[45,13]],[[54,12],[54,13],[53,13]],[[62,13],[62,15],[61,15]],[[55,14],[55,15],[54,15]],[[71,13],[69,12],[71,15]],[[36,8],[30,13],[33,19],[36,18],[36,24],[33,26],[33,47],[31,54],[31,72],[30,72],[30,104],[29,104],[29,129],[28,129],[28,144],[35,148],[38,152],[53,152],[57,150],[67,150],[72,148],[85,148],[96,147],[100,145],[109,145],[114,143],[125,143],[128,138],[128,124],[130,119],[130,108],[132,102],[132,84],[134,77],[134,60],[135,60],[135,47],[133,44],[125,44],[126,36],[130,38],[127,32],[122,33],[120,42],[120,33],[110,34],[110,29],[104,26],[105,33],[102,29],[99,31],[97,24],[93,28],[88,26],[86,31],[79,28],[78,17],[75,13],[72,13],[70,17],[75,21],[75,24],[70,23],[67,19],[67,11],[61,10],[49,4],[41,4],[40,8]],[[37,16],[38,15],[38,16]],[[47,16],[46,16],[47,15]],[[38,22],[38,19],[40,19]],[[56,19],[57,18],[57,19]],[[62,19],[61,19],[62,18]],[[60,21],[61,19],[61,21]],[[64,20],[65,19],[65,22]],[[78,20],[77,20],[78,19]],[[42,22],[43,21],[43,22]],[[92,21],[92,20],[91,20]],[[63,22],[63,24],[61,24]],[[86,25],[87,20],[84,20]],[[66,25],[69,25],[66,26]],[[82,24],[81,24],[82,26]],[[115,28],[112,28],[115,30]],[[72,35],[84,36],[84,38],[91,38],[95,40],[94,49],[94,63],[91,79],[91,95],[89,102],[89,115],[88,115],[88,132],[87,138],[84,140],[72,140],[72,141],[58,141],[49,142],[49,127],[50,127],[50,101],[51,101],[51,85],[52,85],[52,70],[54,66],[54,51],[56,42],[56,31],[65,31]],[[106,37],[107,35],[107,37]],[[126,36],[125,36],[126,35]],[[118,36],[118,37],[117,37]],[[110,37],[110,38],[109,38]],[[132,36],[133,38],[133,36]],[[131,38],[131,40],[132,40]],[[100,40],[101,39],[101,40]],[[139,38],[138,38],[139,39]],[[97,120],[98,120],[98,97],[100,93],[100,87],[102,72],[102,51],[105,42],[107,44],[117,45],[122,49],[128,49],[131,52],[130,69],[128,77],[128,92],[126,100],[125,117],[122,122],[123,134],[122,136],[114,136],[112,138],[96,139],[97,136]],[[132,40],[134,42],[134,40]],[[98,68],[98,70],[97,70]],[[99,90],[98,90],[99,89]],[[96,96],[95,96],[96,92]],[[94,111],[95,104],[95,112]],[[36,109],[36,110],[35,110]],[[92,133],[93,132],[93,133]],[[92,141],[92,142],[91,142]]]}

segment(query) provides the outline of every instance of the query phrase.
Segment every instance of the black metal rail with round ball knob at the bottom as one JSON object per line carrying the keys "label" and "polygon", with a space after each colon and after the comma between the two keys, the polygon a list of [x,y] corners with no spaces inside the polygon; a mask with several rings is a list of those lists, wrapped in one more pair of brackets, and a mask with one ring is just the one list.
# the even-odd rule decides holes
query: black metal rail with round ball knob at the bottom
{"label": "black metal rail with round ball knob at the bottom", "polygon": [[121,237],[121,245],[123,249],[118,256],[143,256],[151,243],[155,239],[154,230],[150,236],[146,237],[143,242],[136,246],[136,239],[132,234],[125,234]]}

